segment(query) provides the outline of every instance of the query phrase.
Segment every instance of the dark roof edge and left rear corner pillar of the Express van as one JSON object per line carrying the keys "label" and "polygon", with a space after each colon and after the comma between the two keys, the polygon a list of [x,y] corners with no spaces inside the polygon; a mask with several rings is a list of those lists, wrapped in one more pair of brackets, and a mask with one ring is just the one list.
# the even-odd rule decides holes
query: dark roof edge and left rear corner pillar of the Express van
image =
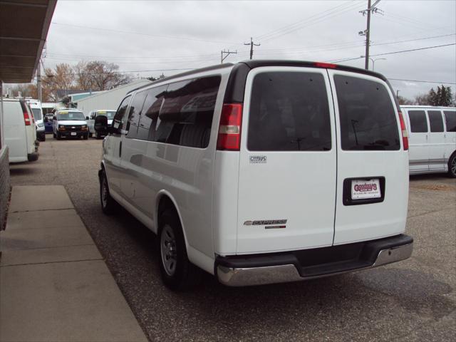
{"label": "dark roof edge and left rear corner pillar of the Express van", "polygon": [[[140,90],[142,88],[147,88],[149,86],[164,83],[170,81],[175,78],[180,78],[183,76],[191,76],[197,73],[202,73],[206,71],[212,70],[219,70],[224,68],[232,68],[232,73],[229,77],[228,81],[228,88],[227,94],[225,95],[226,102],[243,102],[244,100],[244,82],[245,78],[247,78],[247,73],[254,68],[259,68],[261,66],[301,66],[307,68],[333,68],[337,70],[343,71],[351,71],[354,73],[363,73],[366,75],[375,76],[377,78],[382,79],[383,81],[387,82],[385,76],[381,73],[375,73],[374,71],[368,71],[366,69],[355,68],[353,66],[342,66],[340,64],[332,64],[332,63],[323,63],[323,62],[314,62],[314,61],[288,61],[288,60],[247,60],[241,61],[239,63],[224,63],[224,64],[217,64],[215,66],[208,66],[206,68],[199,68],[191,71],[186,71],[185,73],[178,73],[173,76],[161,78],[160,80],[153,81],[151,84],[147,84],[145,86],[140,86],[133,90],[130,90],[128,94],[135,92],[136,90]],[[241,94],[242,92],[242,94]],[[229,93],[229,94],[228,94]]]}

